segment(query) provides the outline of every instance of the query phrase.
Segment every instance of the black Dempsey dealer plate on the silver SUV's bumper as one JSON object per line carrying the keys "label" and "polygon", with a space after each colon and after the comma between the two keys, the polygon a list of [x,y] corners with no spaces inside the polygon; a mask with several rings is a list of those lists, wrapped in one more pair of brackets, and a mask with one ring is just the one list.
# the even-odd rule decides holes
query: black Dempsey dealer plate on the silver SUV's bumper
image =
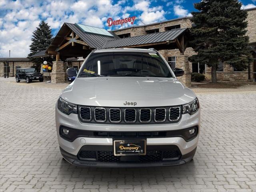
{"label": "black Dempsey dealer plate on the silver SUV's bumper", "polygon": [[146,140],[114,140],[114,155],[146,155]]}

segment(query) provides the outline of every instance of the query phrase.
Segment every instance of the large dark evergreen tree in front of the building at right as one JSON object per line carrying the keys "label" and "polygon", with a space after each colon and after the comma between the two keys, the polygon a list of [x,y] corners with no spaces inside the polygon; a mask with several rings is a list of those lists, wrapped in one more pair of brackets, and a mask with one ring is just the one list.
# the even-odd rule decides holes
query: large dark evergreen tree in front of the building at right
{"label": "large dark evergreen tree in front of the building at right", "polygon": [[238,0],[202,0],[194,4],[199,12],[192,12],[190,45],[197,55],[190,62],[200,62],[212,67],[212,82],[217,82],[218,63],[224,62],[246,69],[252,62],[249,38],[246,35],[247,12]]}

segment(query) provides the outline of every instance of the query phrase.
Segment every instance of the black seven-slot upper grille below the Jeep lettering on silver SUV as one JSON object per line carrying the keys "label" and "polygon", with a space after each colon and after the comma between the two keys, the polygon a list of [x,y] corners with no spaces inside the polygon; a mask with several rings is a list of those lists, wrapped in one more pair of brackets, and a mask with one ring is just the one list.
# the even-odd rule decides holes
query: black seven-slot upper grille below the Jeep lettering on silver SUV
{"label": "black seven-slot upper grille below the Jeep lettering on silver SUV", "polygon": [[175,123],[181,118],[181,106],[148,108],[110,108],[78,106],[82,122],[106,124]]}

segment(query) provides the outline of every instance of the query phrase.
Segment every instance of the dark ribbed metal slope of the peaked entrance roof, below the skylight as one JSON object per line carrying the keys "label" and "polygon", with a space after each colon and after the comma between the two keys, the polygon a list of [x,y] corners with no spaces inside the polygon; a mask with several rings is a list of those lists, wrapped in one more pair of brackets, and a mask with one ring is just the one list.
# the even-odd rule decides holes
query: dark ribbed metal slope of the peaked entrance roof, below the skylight
{"label": "dark ribbed metal slope of the peaked entrance roof, below the skylight", "polygon": [[90,46],[90,48],[102,48],[104,43],[108,40],[113,40],[116,38],[119,38],[118,36],[114,35],[114,33],[110,32],[111,34],[114,35],[114,37],[110,36],[103,36],[99,34],[91,34],[91,33],[86,33],[83,32],[78,26],[75,24],[71,23],[65,23],[66,26],[68,26],[72,31],[75,32],[84,42]]}

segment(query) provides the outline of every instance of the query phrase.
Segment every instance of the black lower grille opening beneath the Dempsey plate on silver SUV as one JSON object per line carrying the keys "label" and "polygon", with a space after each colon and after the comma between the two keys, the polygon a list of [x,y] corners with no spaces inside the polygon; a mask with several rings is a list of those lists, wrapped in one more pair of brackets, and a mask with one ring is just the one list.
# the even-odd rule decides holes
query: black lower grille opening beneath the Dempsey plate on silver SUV
{"label": "black lower grille opening beneath the Dempsey plate on silver SUV", "polygon": [[80,160],[92,160],[98,162],[116,162],[116,163],[127,163],[127,162],[170,162],[177,161],[181,157],[179,150],[172,151],[161,151],[152,150],[147,151],[146,155],[138,156],[114,156],[112,151],[88,151],[80,150],[78,158]]}

